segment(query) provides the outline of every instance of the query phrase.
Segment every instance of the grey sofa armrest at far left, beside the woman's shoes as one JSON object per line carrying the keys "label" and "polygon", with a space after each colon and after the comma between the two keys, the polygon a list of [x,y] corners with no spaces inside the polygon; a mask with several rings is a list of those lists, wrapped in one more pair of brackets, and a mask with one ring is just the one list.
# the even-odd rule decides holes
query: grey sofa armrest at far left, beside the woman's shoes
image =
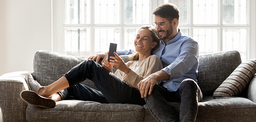
{"label": "grey sofa armrest at far left, beside the woman's shoes", "polygon": [[0,107],[4,122],[25,122],[26,102],[20,98],[22,90],[29,90],[25,75],[29,71],[11,72],[0,76]]}

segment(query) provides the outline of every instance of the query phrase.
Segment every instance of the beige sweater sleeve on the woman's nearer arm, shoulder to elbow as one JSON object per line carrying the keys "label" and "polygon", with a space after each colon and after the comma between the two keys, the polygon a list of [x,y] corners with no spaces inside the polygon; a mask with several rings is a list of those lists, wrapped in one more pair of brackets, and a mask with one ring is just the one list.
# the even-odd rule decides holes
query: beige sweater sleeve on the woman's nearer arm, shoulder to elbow
{"label": "beige sweater sleeve on the woman's nearer arm, shoulder to elbow", "polygon": [[[145,64],[139,67],[139,71],[145,71],[144,75],[139,75],[135,71],[131,70],[129,74],[127,74],[123,81],[129,84],[131,87],[138,89],[137,84],[144,78],[148,77],[150,74],[155,73],[157,71],[160,71],[163,66],[162,62],[159,59],[158,56],[153,55],[150,57],[150,59],[147,62],[144,62]],[[157,84],[160,83],[159,81]]]}

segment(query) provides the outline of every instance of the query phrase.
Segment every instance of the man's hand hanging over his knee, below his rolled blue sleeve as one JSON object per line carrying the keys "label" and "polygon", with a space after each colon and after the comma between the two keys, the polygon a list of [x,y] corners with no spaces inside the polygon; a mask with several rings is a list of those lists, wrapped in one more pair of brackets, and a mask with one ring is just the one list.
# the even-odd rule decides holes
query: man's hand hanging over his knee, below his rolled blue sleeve
{"label": "man's hand hanging over his knee, below his rolled blue sleeve", "polygon": [[[147,78],[141,80],[138,83],[138,89],[141,95],[141,98],[144,98],[147,96],[147,94],[151,94],[154,85],[157,84],[157,78],[154,76],[154,74],[150,74]],[[148,92],[149,89],[149,92]]]}

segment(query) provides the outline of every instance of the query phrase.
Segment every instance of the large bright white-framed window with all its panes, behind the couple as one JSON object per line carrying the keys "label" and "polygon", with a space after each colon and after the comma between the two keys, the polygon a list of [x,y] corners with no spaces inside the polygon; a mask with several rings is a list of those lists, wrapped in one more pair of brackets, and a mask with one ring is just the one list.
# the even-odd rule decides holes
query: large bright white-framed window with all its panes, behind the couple
{"label": "large bright white-framed window with all its panes, behind the couple", "polygon": [[108,50],[109,43],[133,49],[138,29],[151,25],[153,10],[167,2],[178,6],[179,28],[198,41],[200,54],[238,50],[243,61],[255,57],[253,0],[57,0],[52,50],[88,57]]}

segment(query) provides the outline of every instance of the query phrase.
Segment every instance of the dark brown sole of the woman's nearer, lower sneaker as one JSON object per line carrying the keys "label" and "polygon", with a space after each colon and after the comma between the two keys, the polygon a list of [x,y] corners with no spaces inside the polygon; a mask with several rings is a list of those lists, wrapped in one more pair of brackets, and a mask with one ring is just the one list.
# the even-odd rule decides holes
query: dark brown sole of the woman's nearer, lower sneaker
{"label": "dark brown sole of the woman's nearer, lower sneaker", "polygon": [[35,91],[29,91],[29,90],[22,91],[20,93],[20,97],[26,103],[34,106],[52,109],[56,105],[56,102],[54,100],[40,96],[37,93],[35,93]]}

